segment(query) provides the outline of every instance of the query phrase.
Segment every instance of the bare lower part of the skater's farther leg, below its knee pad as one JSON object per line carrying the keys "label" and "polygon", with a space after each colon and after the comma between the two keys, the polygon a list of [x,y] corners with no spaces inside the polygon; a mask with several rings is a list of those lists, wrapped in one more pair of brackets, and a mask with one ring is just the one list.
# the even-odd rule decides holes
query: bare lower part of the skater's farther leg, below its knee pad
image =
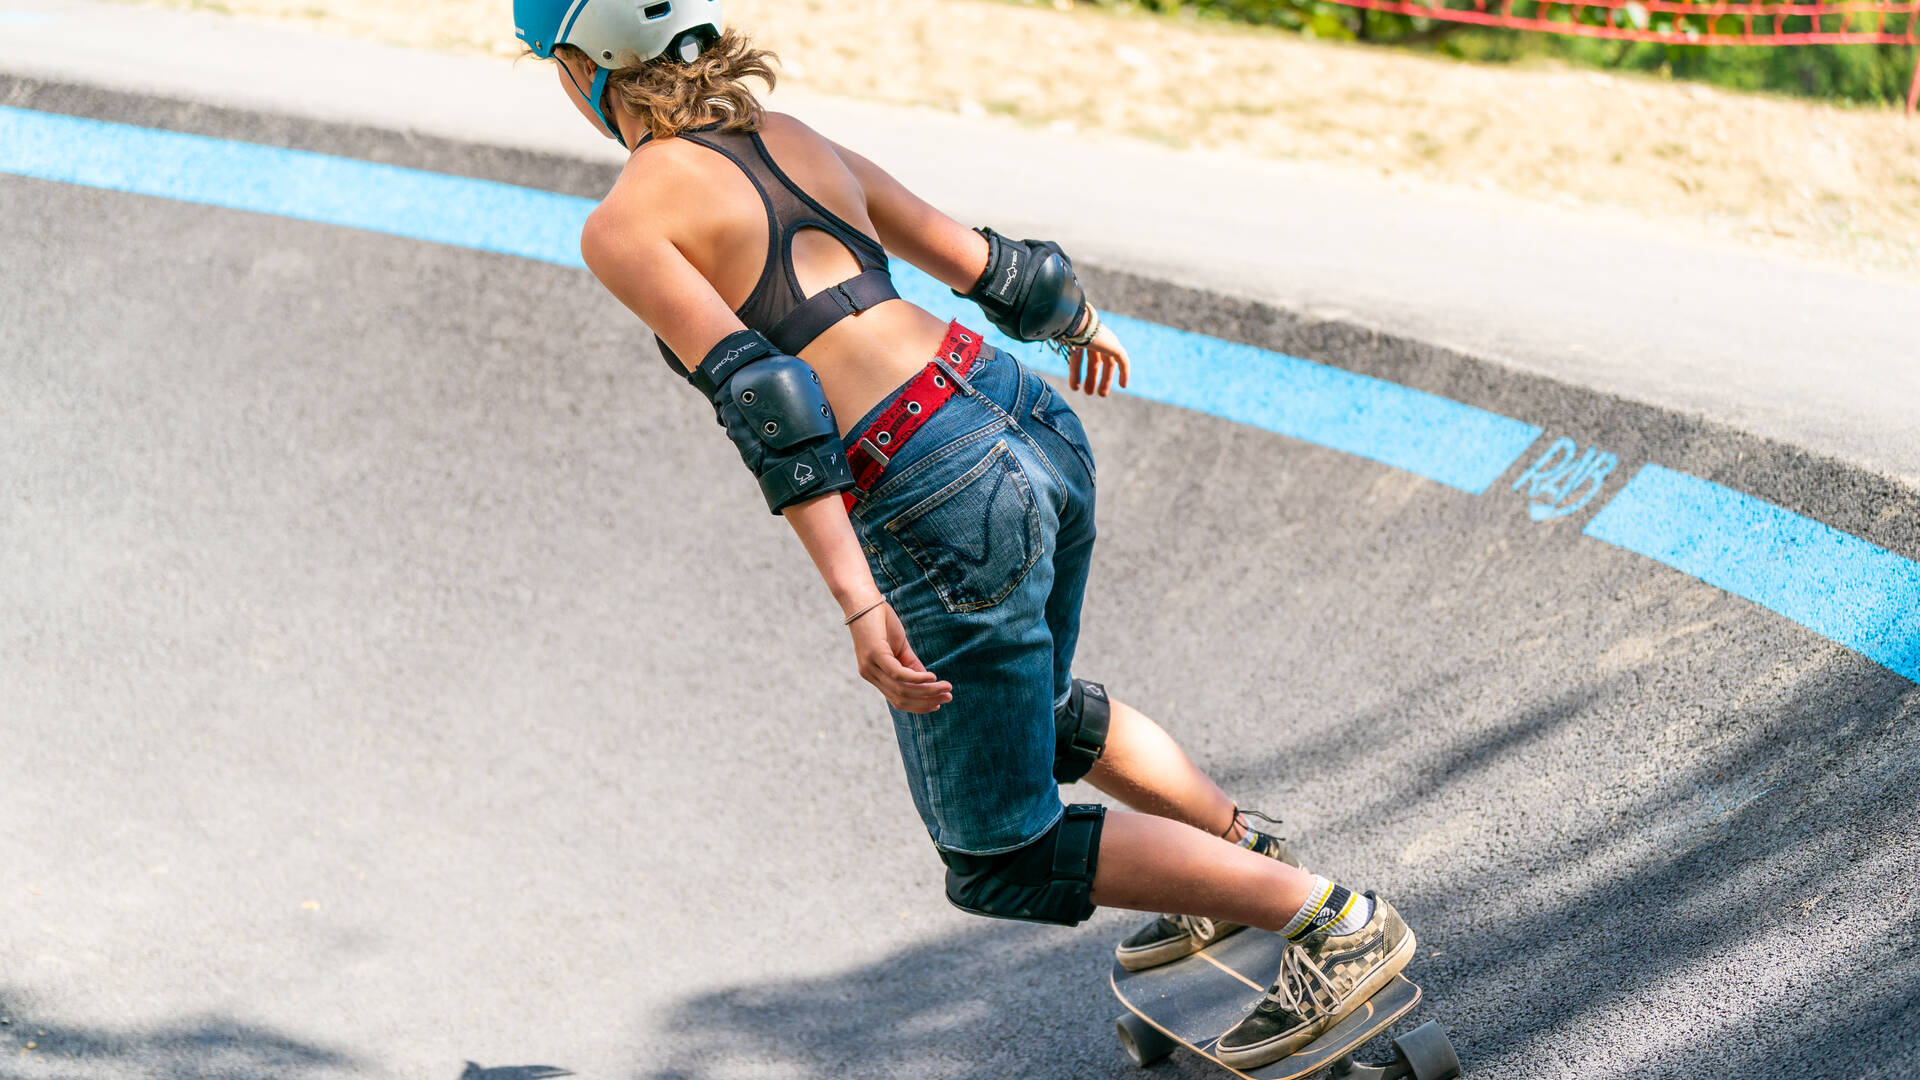
{"label": "bare lower part of the skater's farther leg, below its knee pad", "polygon": [[1089,784],[1140,813],[1171,817],[1213,836],[1238,840],[1246,832],[1227,792],[1187,759],[1165,728],[1123,701],[1110,701],[1108,715],[1106,751],[1087,773]]}

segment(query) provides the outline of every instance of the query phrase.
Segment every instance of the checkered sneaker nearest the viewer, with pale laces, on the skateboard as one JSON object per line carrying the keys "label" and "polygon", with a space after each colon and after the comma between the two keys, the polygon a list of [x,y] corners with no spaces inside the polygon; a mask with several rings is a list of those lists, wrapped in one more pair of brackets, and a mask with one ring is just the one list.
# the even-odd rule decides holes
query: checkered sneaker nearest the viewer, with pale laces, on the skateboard
{"label": "checkered sneaker nearest the viewer, with pale laces, on the skateboard", "polygon": [[1373,919],[1352,934],[1308,934],[1286,949],[1281,976],[1244,1020],[1213,1043],[1229,1068],[1258,1068],[1317,1040],[1359,1009],[1413,959],[1413,930],[1384,899],[1373,899]]}

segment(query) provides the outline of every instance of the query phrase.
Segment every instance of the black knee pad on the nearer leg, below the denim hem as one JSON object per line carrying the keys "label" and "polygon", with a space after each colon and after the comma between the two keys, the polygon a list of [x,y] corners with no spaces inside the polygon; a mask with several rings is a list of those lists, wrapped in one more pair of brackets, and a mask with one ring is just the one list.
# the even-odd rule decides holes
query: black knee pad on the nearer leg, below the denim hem
{"label": "black knee pad on the nearer leg, below the denim hem", "polygon": [[1106,807],[1069,805],[1044,836],[998,855],[941,851],[947,899],[972,915],[1077,926],[1092,915]]}

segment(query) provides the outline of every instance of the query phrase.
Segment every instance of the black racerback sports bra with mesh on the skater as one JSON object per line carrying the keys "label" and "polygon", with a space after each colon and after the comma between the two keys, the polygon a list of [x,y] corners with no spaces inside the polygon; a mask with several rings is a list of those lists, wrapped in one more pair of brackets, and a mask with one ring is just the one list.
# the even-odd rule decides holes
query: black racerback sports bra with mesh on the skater
{"label": "black racerback sports bra with mesh on the skater", "polygon": [[[760,269],[760,281],[753,282],[747,302],[733,311],[747,329],[766,334],[780,352],[797,356],[847,315],[858,315],[876,304],[899,298],[893,279],[887,275],[887,250],[879,246],[879,240],[849,225],[801,190],[774,163],[760,133],[691,129],[682,131],[680,138],[699,142],[739,165],[766,206],[766,267]],[[845,244],[860,265],[860,273],[812,296],[803,294],[801,281],[793,275],[793,236],[801,229],[820,229]],[[666,363],[685,377],[687,365],[666,348],[666,342],[659,344]]]}

